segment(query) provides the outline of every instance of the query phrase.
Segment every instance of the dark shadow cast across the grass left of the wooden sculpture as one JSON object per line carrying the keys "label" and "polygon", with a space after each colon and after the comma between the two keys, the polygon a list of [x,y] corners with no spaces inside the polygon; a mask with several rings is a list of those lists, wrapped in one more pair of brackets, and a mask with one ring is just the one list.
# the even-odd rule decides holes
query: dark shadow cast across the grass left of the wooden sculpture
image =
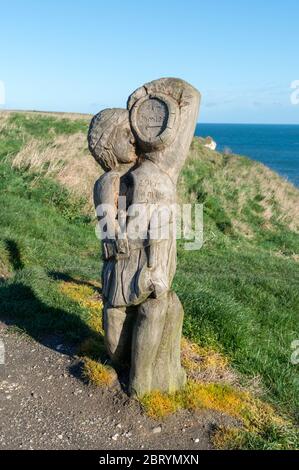
{"label": "dark shadow cast across the grass left of the wooden sculpture", "polygon": [[[20,249],[14,240],[5,240],[5,245],[9,261],[17,274],[24,268]],[[92,282],[74,279],[60,272],[50,272],[48,276],[56,281],[92,286],[100,293]],[[94,347],[90,351],[87,348],[84,355],[91,359],[107,360],[103,335],[91,329],[78,313],[47,305],[32,287],[18,280],[18,277],[15,281],[9,279],[0,283],[0,321],[12,332],[25,333],[43,346],[72,358],[82,343],[89,341]],[[70,372],[82,380],[81,366],[78,359]]]}

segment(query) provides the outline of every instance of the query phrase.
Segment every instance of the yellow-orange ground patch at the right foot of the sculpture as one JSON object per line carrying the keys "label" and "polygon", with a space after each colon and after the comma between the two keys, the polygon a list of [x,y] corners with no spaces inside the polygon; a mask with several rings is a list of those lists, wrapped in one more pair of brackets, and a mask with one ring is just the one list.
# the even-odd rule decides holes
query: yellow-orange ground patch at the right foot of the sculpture
{"label": "yellow-orange ground patch at the right foot of the sculpture", "polygon": [[151,418],[163,419],[182,409],[226,414],[235,424],[220,427],[213,436],[214,446],[223,449],[246,448],[271,432],[283,434],[292,429],[291,423],[256,396],[256,391],[240,385],[240,377],[221,352],[183,338],[182,364],[188,376],[184,389],[172,394],[154,391],[140,400]]}

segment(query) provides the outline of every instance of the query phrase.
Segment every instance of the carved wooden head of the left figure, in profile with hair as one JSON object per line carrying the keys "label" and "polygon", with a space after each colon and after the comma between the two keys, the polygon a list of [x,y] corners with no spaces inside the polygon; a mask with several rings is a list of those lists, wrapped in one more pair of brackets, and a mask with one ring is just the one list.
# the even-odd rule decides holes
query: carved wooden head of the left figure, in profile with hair
{"label": "carved wooden head of the left figure, in profile with hair", "polygon": [[104,109],[96,114],[88,131],[89,150],[103,170],[136,161],[135,139],[126,109]]}

